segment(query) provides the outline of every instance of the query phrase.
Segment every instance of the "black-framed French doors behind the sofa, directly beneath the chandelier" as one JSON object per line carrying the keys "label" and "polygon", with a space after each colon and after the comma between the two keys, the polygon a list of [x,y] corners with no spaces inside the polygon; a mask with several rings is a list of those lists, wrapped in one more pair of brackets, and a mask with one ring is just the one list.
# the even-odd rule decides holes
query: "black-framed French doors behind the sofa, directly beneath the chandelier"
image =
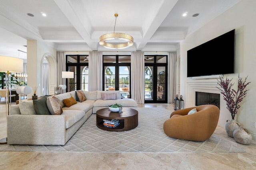
{"label": "black-framed French doors behind the sofa, directly beneath the chandelier", "polygon": [[130,55],[103,55],[103,90],[120,90],[130,98]]}

